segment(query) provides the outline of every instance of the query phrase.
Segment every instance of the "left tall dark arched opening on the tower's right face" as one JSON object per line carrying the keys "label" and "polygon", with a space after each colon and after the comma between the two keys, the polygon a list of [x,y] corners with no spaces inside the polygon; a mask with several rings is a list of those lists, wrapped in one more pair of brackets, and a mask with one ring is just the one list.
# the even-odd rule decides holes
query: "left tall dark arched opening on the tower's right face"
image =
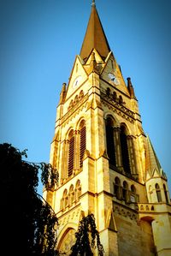
{"label": "left tall dark arched opening on the tower's right face", "polygon": [[113,120],[108,117],[106,120],[106,143],[107,153],[109,156],[109,164],[116,165],[115,161],[115,142],[114,142],[114,128]]}

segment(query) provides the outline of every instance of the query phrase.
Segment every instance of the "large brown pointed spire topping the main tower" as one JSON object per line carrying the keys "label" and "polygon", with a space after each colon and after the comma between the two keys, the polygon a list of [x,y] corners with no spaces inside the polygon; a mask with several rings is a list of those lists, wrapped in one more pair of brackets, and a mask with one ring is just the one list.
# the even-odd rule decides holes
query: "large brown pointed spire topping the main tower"
{"label": "large brown pointed spire topping the main tower", "polygon": [[97,13],[95,1],[91,3],[91,15],[86,28],[85,39],[83,41],[80,57],[89,57],[91,51],[96,49],[101,57],[107,57],[110,51],[108,40],[103,31],[102,23]]}

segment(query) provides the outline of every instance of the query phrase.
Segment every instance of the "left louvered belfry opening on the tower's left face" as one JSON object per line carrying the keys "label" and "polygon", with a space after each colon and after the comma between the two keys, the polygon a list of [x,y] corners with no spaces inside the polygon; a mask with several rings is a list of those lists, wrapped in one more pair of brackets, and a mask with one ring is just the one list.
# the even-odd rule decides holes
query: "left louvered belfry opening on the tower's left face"
{"label": "left louvered belfry opening on the tower's left face", "polygon": [[72,176],[74,170],[74,131],[69,134],[68,149],[68,176]]}

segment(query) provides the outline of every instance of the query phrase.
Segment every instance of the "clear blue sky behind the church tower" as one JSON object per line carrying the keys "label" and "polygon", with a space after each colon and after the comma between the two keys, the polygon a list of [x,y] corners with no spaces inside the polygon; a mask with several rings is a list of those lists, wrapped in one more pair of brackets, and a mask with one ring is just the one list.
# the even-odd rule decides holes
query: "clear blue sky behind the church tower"
{"label": "clear blue sky behind the church tower", "polygon": [[[171,1],[97,0],[171,193]],[[0,143],[49,162],[56,105],[80,54],[91,0],[0,0]],[[38,188],[42,193],[41,186]]]}

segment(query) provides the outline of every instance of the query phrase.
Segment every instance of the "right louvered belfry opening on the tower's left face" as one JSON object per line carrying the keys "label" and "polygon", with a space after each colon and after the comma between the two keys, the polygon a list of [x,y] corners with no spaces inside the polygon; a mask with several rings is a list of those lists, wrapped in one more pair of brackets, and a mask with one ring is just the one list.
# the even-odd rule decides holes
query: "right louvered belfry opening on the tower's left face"
{"label": "right louvered belfry opening on the tower's left face", "polygon": [[83,157],[86,148],[86,127],[85,121],[80,122],[80,168],[83,166]]}

